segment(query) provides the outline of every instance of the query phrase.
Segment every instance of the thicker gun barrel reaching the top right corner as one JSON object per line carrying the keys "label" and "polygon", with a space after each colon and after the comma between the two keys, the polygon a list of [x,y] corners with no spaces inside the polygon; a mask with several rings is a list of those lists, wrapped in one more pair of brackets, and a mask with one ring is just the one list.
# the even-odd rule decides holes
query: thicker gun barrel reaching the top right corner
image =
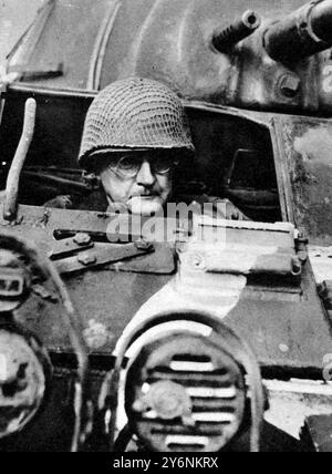
{"label": "thicker gun barrel reaching the top right corner", "polygon": [[293,62],[332,47],[332,0],[317,0],[271,24],[264,48],[276,61]]}

